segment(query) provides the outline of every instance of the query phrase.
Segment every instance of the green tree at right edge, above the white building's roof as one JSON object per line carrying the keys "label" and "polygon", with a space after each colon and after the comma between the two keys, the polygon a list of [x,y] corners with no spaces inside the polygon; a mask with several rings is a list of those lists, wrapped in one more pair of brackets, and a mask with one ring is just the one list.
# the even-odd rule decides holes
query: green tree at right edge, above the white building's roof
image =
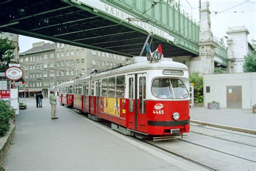
{"label": "green tree at right edge, above the white building's roof", "polygon": [[256,52],[245,56],[245,64],[242,66],[245,73],[256,72]]}

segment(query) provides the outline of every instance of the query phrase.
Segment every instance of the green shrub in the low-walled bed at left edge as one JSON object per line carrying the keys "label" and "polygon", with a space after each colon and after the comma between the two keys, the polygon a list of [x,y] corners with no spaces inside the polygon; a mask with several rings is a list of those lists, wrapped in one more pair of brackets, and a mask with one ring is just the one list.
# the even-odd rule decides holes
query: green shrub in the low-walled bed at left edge
{"label": "green shrub in the low-walled bed at left edge", "polygon": [[10,109],[3,100],[0,100],[0,137],[5,136],[10,128],[9,120],[15,115],[15,111]]}

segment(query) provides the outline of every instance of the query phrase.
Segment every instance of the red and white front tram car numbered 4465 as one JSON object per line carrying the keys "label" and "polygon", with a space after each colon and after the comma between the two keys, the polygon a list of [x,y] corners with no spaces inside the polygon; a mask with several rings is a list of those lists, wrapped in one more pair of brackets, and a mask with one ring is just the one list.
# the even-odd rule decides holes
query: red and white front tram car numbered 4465
{"label": "red and white front tram car numbered 4465", "polygon": [[158,136],[190,131],[188,68],[182,63],[134,57],[131,65],[70,83],[73,107],[109,120],[115,130]]}

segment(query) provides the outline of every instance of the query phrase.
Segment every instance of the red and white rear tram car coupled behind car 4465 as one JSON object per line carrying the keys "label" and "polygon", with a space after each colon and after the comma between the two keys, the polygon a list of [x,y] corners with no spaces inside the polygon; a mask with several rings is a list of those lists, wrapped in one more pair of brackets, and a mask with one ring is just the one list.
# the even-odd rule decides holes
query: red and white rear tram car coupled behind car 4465
{"label": "red and white rear tram car coupled behind car 4465", "polygon": [[69,81],[59,85],[59,104],[65,107],[73,106],[73,82]]}

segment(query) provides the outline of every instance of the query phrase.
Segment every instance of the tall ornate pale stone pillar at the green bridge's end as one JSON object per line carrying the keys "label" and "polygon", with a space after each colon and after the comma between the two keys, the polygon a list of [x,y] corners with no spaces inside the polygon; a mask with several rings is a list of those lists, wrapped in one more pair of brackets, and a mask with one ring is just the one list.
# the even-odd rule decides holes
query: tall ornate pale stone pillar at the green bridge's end
{"label": "tall ornate pale stone pillar at the green bridge's end", "polygon": [[209,2],[204,1],[200,10],[200,31],[199,31],[199,56],[191,58],[190,73],[198,71],[201,74],[214,73],[214,48],[217,47],[213,41],[211,31],[211,20]]}

